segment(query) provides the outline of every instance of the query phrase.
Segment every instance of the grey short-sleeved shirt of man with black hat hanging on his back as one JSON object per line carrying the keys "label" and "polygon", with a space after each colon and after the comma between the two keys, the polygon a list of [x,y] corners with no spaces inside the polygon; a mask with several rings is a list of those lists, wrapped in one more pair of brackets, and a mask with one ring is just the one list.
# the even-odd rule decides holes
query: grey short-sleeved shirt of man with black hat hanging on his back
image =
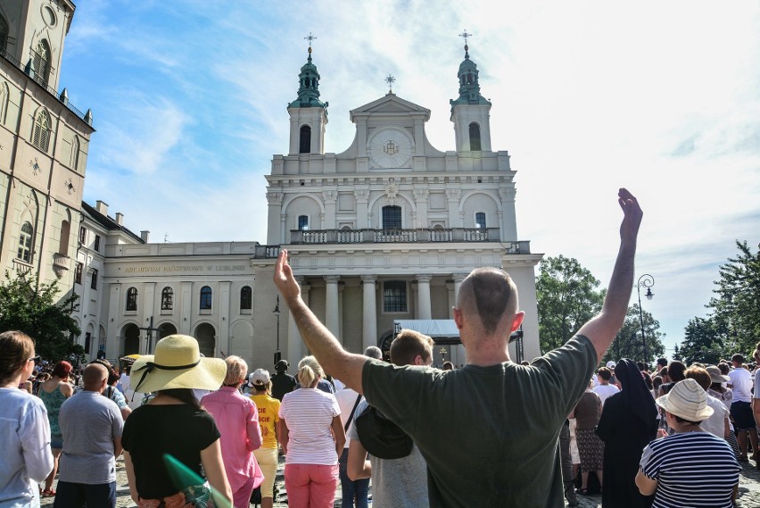
{"label": "grey short-sleeved shirt of man with black hat hanging on his back", "polygon": [[[368,404],[362,400],[356,408],[361,414]],[[356,418],[354,416],[354,418]],[[356,426],[348,431],[349,441],[359,441]],[[372,464],[372,504],[380,508],[403,506],[404,508],[427,508],[427,464],[417,445],[401,459],[378,459],[369,455]]]}

